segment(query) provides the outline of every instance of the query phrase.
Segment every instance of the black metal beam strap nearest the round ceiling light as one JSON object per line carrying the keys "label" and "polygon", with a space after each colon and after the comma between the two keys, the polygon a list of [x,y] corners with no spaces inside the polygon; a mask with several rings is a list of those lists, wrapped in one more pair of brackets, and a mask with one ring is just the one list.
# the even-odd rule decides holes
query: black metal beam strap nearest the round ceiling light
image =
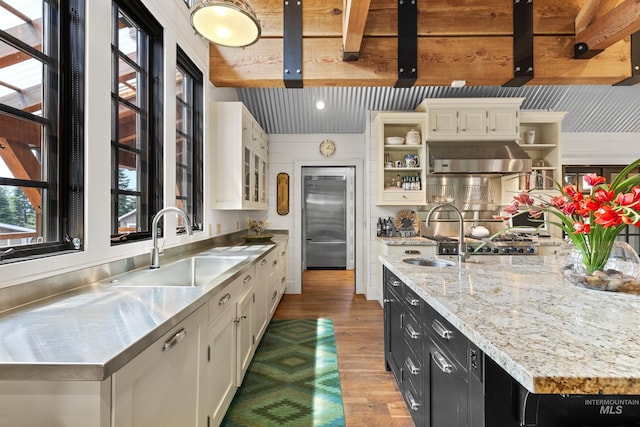
{"label": "black metal beam strap nearest the round ceiling light", "polygon": [[302,0],[284,0],[284,60],[285,87],[302,87]]}

